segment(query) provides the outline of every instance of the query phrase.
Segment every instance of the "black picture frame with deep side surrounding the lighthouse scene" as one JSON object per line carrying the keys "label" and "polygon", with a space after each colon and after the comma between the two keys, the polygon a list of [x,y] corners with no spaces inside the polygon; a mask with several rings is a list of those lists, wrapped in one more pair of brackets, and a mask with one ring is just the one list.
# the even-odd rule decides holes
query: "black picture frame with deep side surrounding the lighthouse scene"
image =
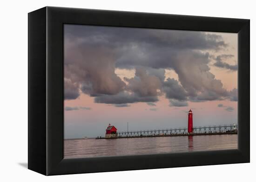
{"label": "black picture frame with deep side surrounding the lighthouse scene", "polygon": [[[63,159],[64,24],[238,33],[238,149]],[[28,169],[48,176],[249,163],[249,42],[249,19],[62,7],[28,13]]]}

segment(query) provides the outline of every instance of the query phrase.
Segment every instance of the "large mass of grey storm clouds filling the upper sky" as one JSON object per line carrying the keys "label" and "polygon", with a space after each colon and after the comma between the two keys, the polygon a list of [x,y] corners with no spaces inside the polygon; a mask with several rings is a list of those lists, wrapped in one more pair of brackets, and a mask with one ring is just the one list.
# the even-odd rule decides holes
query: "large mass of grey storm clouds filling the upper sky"
{"label": "large mass of grey storm clouds filling the upper sky", "polygon": [[[199,31],[65,25],[65,99],[76,99],[81,91],[115,107],[156,102],[159,95],[176,107],[235,101],[237,91],[224,89],[208,66],[206,50],[227,46],[221,36]],[[135,69],[135,77],[124,82],[116,68]],[[165,69],[173,69],[179,80],[165,80]]]}

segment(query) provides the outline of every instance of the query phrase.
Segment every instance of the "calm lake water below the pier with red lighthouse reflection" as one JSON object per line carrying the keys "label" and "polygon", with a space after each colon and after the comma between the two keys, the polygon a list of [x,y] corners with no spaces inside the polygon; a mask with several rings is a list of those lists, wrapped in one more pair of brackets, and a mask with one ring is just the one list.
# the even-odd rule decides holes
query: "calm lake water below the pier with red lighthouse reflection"
{"label": "calm lake water below the pier with red lighthouse reflection", "polygon": [[65,139],[64,158],[237,149],[237,134],[183,137]]}

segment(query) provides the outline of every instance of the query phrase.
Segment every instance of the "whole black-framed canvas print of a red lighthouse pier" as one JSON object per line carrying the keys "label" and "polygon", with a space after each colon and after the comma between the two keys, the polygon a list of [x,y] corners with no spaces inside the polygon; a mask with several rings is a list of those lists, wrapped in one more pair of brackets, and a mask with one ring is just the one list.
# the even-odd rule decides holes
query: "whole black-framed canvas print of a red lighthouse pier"
{"label": "whole black-framed canvas print of a red lighthouse pier", "polygon": [[28,168],[249,162],[249,20],[28,13]]}

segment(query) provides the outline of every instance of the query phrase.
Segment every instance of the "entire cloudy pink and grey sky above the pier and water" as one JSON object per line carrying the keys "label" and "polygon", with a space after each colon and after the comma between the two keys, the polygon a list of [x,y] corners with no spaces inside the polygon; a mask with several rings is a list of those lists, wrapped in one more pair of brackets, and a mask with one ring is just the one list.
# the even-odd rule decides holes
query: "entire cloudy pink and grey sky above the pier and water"
{"label": "entire cloudy pink and grey sky above the pier and water", "polygon": [[237,34],[64,25],[64,138],[237,123]]}

